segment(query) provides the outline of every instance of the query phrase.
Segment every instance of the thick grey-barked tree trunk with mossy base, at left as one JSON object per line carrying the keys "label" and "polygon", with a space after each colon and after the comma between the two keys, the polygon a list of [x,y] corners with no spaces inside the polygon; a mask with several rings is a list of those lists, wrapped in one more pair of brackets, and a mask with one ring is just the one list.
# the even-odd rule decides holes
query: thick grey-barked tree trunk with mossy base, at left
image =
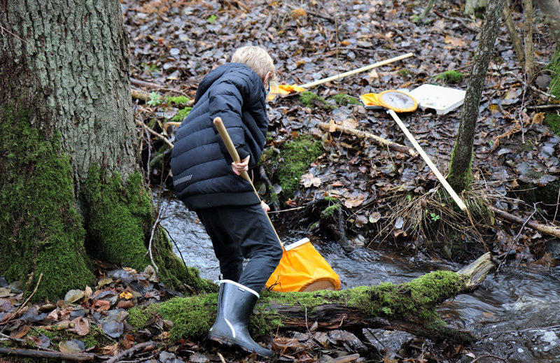
{"label": "thick grey-barked tree trunk with mossy base, at left", "polygon": [[[144,269],[155,215],[119,1],[0,0],[0,10],[0,276],[29,290],[43,273],[34,298],[57,299],[94,282],[92,258]],[[153,249],[179,287],[186,270],[160,229]]]}

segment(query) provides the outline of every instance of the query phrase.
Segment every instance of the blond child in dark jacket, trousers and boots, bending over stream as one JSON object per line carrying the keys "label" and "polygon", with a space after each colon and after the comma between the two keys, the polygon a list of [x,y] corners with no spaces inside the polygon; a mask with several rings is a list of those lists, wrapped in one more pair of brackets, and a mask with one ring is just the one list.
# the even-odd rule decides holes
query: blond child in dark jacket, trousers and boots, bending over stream
{"label": "blond child in dark jacket, trousers and boots, bending over stream", "polygon": [[[268,206],[239,175],[260,159],[268,125],[266,94],[275,80],[274,62],[264,49],[239,48],[232,62],[200,83],[195,106],[176,132],[171,159],[177,197],[197,213],[220,262],[218,315],[207,339],[265,357],[272,351],[251,339],[247,324],[282,248]],[[217,117],[241,162],[233,162],[225,148],[213,123]],[[249,259],[245,269],[244,258]]]}

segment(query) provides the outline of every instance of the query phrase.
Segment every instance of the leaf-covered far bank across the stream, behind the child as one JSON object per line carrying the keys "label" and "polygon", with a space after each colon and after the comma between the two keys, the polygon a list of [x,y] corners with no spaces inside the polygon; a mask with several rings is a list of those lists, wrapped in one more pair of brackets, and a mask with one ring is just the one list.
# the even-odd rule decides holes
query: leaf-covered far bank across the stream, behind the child
{"label": "leaf-covered far bank across the stream, behind the child", "polygon": [[[547,38],[538,11],[533,82],[524,80],[504,25],[496,40],[474,137],[474,182],[461,195],[470,206],[470,218],[457,213],[452,199],[442,197],[440,182],[418,155],[335,131],[335,127],[365,131],[412,148],[386,111],[367,110],[353,101],[361,94],[412,91],[425,84],[466,89],[482,20],[463,15],[461,6],[445,1],[435,3],[423,23],[422,6],[418,1],[360,0],[304,5],[124,1],[136,116],[145,127],[143,156],[153,185],[172,190],[169,145],[174,122],[180,122],[190,106],[181,104],[180,97],[193,98],[204,75],[228,62],[240,46],[267,48],[279,83],[285,85],[302,85],[412,52],[413,57],[318,85],[311,89],[310,100],[309,95],[305,99],[293,93],[269,101],[269,138],[262,160],[268,185],[260,191],[278,193],[278,200],[266,194],[267,202],[282,211],[273,218],[339,240],[344,248],[394,243],[460,261],[468,245],[467,256],[509,250],[508,256],[522,261],[540,259],[550,236],[521,225],[533,221],[559,225],[554,219],[559,215],[560,136],[552,130],[560,132],[560,127],[547,115],[556,114],[558,106],[549,94],[554,72],[545,69],[554,43]],[[521,34],[522,14],[514,9],[512,17]],[[447,71],[455,71],[456,78]],[[545,105],[551,108],[541,108]],[[400,114],[444,175],[461,109],[445,115],[421,108]],[[328,129],[324,124],[329,124]],[[305,135],[320,141],[323,148],[300,173],[286,174],[281,166],[296,169],[297,163],[284,147]],[[480,208],[480,200],[521,222],[503,226],[493,213]],[[325,211],[332,206],[337,213],[332,213],[333,208]],[[546,256],[547,261],[557,257]]]}

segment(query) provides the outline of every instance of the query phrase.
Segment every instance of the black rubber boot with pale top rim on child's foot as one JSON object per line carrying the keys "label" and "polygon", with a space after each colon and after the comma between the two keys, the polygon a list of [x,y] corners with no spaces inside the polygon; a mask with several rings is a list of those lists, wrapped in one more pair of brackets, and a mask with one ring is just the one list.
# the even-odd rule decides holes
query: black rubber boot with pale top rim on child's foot
{"label": "black rubber boot with pale top rim on child's foot", "polygon": [[262,348],[249,335],[247,325],[259,294],[232,280],[221,280],[218,292],[218,315],[207,339],[237,346],[247,353],[272,357],[272,350]]}

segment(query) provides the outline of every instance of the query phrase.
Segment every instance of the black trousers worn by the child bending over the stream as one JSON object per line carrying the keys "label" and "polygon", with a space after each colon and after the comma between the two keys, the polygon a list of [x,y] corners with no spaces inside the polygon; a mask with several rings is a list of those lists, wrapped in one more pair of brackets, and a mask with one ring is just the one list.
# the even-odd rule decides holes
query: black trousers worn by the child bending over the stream
{"label": "black trousers worn by the child bending over the stream", "polygon": [[[256,292],[278,266],[282,248],[259,204],[221,206],[196,211],[214,245],[224,279]],[[243,260],[248,263],[243,269]]]}

